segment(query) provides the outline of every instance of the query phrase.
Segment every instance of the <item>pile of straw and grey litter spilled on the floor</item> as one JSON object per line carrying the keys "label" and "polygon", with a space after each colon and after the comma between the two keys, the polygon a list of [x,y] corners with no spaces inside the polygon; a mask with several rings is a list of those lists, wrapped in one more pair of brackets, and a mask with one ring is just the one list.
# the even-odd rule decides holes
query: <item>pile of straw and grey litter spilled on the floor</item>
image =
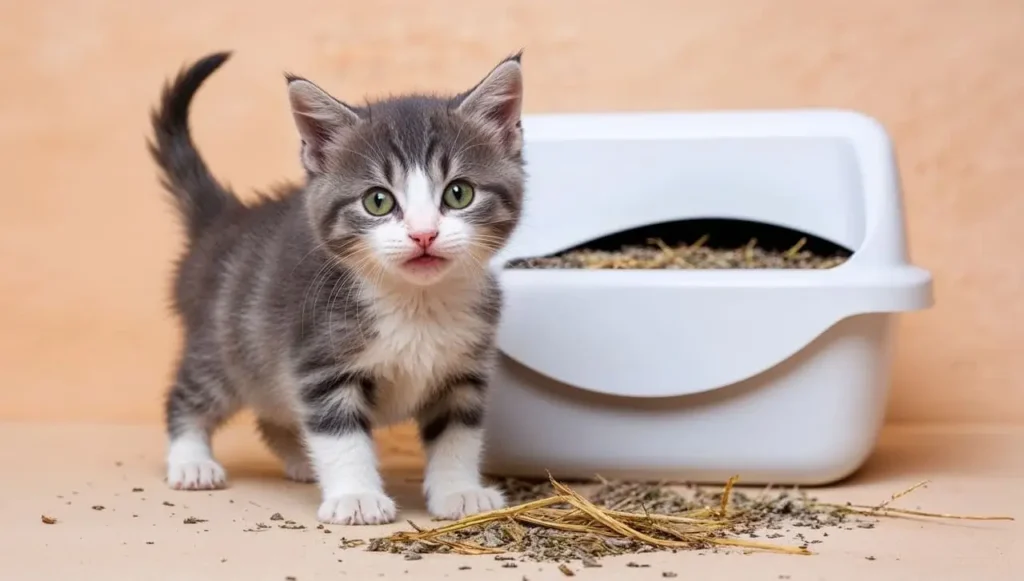
{"label": "pile of straw and grey litter spilled on the floor", "polygon": [[[413,531],[370,541],[368,550],[399,554],[518,553],[521,558],[595,566],[600,557],[657,550],[735,547],[790,554],[811,554],[803,535],[799,545],[758,540],[781,538],[791,527],[812,530],[851,526],[868,517],[931,516],[1012,520],[1005,516],[957,516],[893,508],[893,500],[874,506],[821,503],[799,491],[766,489],[758,494],[734,491],[736,479],[721,491],[639,483],[599,483],[583,495],[562,483],[504,485],[511,506],[474,514],[435,529],[410,523]],[[816,541],[815,541],[816,542]]]}

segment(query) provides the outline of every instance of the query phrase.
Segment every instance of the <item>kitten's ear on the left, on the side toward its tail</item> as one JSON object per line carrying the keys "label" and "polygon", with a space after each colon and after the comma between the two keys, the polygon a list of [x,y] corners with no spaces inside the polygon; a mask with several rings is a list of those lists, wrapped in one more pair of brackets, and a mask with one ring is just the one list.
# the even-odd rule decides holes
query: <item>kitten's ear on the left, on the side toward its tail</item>
{"label": "kitten's ear on the left, on the side toward its tail", "polygon": [[292,116],[302,137],[302,165],[310,173],[321,173],[327,146],[358,123],[359,116],[313,83],[291,75],[286,78]]}

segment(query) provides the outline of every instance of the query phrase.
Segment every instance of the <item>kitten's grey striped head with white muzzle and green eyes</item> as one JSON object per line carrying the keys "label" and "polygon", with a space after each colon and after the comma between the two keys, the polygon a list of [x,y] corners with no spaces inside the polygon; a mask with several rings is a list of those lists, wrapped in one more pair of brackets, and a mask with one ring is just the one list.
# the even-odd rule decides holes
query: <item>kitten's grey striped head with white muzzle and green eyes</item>
{"label": "kitten's grey striped head with white muzzle and green eyes", "polygon": [[319,242],[369,278],[430,285],[486,268],[522,205],[519,54],[453,97],[352,107],[288,81]]}

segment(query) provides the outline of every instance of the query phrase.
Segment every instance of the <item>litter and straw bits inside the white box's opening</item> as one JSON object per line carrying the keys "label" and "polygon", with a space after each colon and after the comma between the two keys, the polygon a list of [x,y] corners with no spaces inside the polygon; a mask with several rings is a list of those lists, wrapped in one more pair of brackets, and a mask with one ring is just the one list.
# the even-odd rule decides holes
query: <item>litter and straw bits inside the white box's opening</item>
{"label": "litter and straw bits inside the white box's opening", "polygon": [[806,250],[807,239],[784,251],[767,250],[752,239],[740,248],[713,248],[708,237],[693,244],[670,246],[658,239],[646,246],[623,246],[618,250],[574,249],[553,256],[517,258],[506,268],[587,268],[587,269],[722,269],[722,268],[834,268],[849,255],[822,256]]}

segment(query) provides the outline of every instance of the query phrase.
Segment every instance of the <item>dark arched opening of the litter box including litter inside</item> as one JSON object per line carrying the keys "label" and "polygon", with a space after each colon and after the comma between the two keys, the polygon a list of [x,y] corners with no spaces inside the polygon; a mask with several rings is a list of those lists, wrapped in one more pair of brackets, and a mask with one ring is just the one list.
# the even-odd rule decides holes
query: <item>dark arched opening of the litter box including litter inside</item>
{"label": "dark arched opening of the litter box including litter inside", "polygon": [[737,269],[834,268],[853,252],[823,238],[763,222],[700,218],[603,236],[506,268]]}

